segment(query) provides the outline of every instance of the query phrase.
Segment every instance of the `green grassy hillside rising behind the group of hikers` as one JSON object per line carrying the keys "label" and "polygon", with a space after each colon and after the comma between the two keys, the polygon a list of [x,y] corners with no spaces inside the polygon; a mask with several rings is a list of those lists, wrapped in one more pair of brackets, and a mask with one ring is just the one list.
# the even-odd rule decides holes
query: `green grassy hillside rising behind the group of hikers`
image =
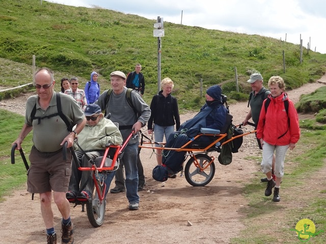
{"label": "green grassy hillside rising behind the group of hikers", "polygon": [[[157,92],[157,38],[153,37],[156,20],[100,8],[45,1],[41,5],[39,0],[0,3],[0,86],[31,82],[32,69],[22,72],[19,64],[30,67],[36,55],[37,67],[54,70],[57,81],[64,75],[77,76],[83,85],[90,73],[97,71],[101,90],[110,86],[112,71],[128,73],[141,63],[146,81],[144,100],[149,103]],[[277,39],[169,22],[164,26],[161,78],[174,80],[173,95],[179,99],[180,108],[197,109],[204,102],[200,98],[200,78],[204,91],[212,84],[222,84],[229,98],[243,100],[250,90],[246,80],[255,70],[266,81],[272,75],[281,75],[288,89],[314,81],[326,71],[325,54],[308,53],[304,48],[300,64],[300,47]],[[17,67],[8,69],[3,62]],[[239,93],[235,92],[234,67]]]}

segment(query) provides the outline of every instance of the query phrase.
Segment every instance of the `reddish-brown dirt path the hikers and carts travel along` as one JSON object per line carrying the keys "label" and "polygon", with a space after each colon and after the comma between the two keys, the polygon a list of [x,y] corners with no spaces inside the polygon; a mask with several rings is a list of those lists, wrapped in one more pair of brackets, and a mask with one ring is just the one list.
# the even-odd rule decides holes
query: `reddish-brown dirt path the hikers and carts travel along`
{"label": "reddish-brown dirt path the hikers and carts travel along", "polygon": [[[326,83],[326,77],[320,81]],[[288,94],[295,103],[301,94],[309,94],[324,84],[306,84]],[[25,101],[26,97],[23,97],[2,101],[0,105],[1,108],[23,114]],[[248,112],[247,103],[231,105],[230,111],[234,123],[241,123]],[[181,122],[194,114],[181,115]],[[101,227],[93,228],[86,212],[81,212],[80,206],[72,208],[71,205],[75,243],[229,243],[230,238],[237,236],[244,228],[240,221],[243,217],[241,209],[248,204],[242,195],[244,184],[255,175],[263,176],[257,162],[244,158],[260,154],[255,138],[246,136],[230,165],[223,166],[215,161],[215,176],[206,187],[192,187],[179,175],[166,181],[162,187],[151,177],[156,165],[155,155],[150,149],[142,149],[141,159],[147,184],[145,190],[139,192],[140,209],[129,211],[124,193],[109,194],[105,222]],[[295,150],[288,154],[287,157],[295,155]],[[212,156],[217,158],[218,154],[213,153]],[[55,228],[60,237],[60,214],[54,203],[53,209]],[[5,202],[0,203],[0,216],[0,243],[45,243],[37,195],[32,201],[31,194],[25,190],[13,192]],[[187,221],[193,225],[188,226]]]}

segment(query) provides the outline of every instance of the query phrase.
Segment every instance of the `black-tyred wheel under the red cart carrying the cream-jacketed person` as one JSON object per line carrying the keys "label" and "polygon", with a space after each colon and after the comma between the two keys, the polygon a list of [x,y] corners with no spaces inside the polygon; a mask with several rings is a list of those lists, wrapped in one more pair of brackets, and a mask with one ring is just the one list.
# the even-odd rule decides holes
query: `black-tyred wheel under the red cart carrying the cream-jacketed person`
{"label": "black-tyred wheel under the red cart carrying the cream-jacketed person", "polygon": [[[100,192],[103,192],[103,187],[99,184],[99,181],[97,181],[97,184],[100,188]],[[105,199],[100,201],[94,185],[92,200],[86,204],[87,217],[92,226],[100,227],[103,224],[105,216],[105,204]]]}

